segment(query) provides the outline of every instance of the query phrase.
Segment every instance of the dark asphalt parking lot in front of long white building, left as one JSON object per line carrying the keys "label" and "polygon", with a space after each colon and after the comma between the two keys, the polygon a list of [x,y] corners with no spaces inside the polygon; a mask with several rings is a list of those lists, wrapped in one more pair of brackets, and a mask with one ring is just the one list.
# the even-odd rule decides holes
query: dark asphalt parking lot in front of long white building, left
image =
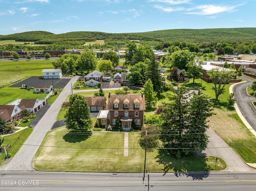
{"label": "dark asphalt parking lot in front of long white building, left", "polygon": [[32,76],[28,79],[20,81],[10,87],[22,87],[22,84],[28,85],[28,87],[34,87],[35,85],[52,85],[54,84],[54,89],[64,88],[71,78],[61,78],[61,79],[38,79],[38,76]]}

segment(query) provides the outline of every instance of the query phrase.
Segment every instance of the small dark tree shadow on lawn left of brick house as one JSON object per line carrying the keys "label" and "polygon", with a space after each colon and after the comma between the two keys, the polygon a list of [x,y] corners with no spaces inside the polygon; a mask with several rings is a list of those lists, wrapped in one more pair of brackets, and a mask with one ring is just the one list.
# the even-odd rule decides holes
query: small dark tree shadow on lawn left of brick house
{"label": "small dark tree shadow on lawn left of brick house", "polygon": [[86,132],[69,132],[63,136],[63,139],[66,142],[69,143],[78,143],[85,141],[86,139],[90,138],[92,135],[92,132],[86,131]]}

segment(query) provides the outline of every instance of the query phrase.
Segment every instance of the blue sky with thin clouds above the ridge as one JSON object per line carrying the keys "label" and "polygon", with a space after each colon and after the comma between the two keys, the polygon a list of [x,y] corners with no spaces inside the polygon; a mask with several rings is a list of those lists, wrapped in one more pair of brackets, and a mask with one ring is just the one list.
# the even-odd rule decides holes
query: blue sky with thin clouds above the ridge
{"label": "blue sky with thin clouds above the ridge", "polygon": [[0,0],[0,35],[256,27],[256,0]]}

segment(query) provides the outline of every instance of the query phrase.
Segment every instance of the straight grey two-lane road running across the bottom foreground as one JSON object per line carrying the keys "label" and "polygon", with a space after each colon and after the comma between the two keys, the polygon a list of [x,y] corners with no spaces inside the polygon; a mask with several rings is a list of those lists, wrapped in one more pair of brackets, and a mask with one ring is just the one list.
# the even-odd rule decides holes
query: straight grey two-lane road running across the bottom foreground
{"label": "straight grey two-lane road running across the bottom foreground", "polygon": [[4,172],[0,186],[8,191],[247,191],[256,186],[255,172],[149,173],[144,182],[142,177],[143,173]]}

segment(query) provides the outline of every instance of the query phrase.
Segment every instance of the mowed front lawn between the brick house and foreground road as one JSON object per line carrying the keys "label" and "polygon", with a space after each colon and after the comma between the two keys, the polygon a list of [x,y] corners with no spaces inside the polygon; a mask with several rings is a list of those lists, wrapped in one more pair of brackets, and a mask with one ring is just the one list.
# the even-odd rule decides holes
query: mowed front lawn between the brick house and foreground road
{"label": "mowed front lawn between the brick house and foreground road", "polygon": [[[124,157],[124,133],[92,132],[92,135],[68,134],[66,128],[48,132],[35,155],[34,166],[53,171],[142,172],[145,151],[138,145],[138,132],[129,132],[128,157]],[[173,159],[163,152],[148,153],[148,171],[215,170],[216,158],[194,156]],[[225,169],[219,159],[216,170]]]}

